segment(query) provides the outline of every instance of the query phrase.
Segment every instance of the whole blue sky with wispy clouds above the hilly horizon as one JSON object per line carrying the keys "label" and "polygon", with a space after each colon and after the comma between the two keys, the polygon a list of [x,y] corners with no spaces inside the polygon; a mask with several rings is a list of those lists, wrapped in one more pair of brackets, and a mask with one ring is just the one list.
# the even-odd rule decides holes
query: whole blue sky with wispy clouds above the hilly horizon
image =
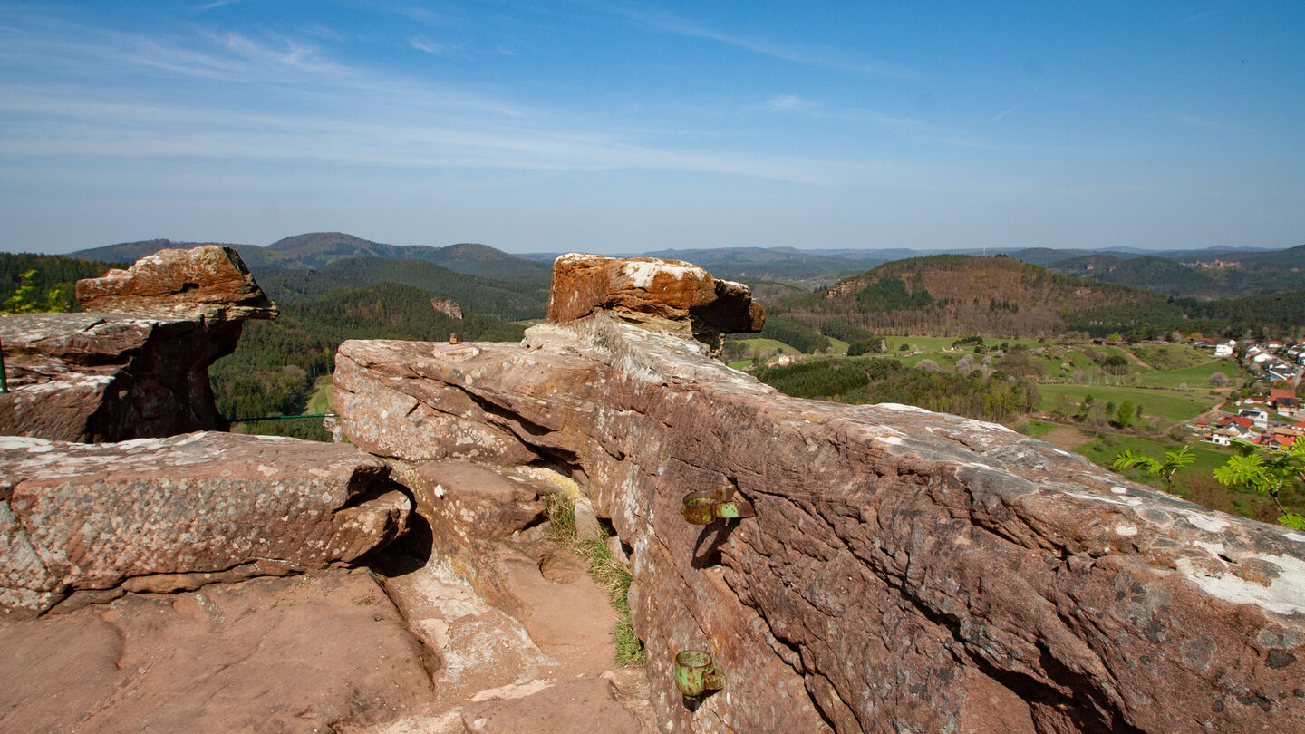
{"label": "whole blue sky with wispy clouds above the hilly horizon", "polygon": [[0,0],[0,249],[1291,247],[1302,38],[1295,0]]}

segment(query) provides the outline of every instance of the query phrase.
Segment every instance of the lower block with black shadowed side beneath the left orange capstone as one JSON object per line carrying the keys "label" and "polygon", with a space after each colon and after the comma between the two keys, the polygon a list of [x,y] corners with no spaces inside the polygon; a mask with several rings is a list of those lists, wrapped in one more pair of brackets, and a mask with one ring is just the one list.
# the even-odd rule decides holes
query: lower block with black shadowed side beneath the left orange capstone
{"label": "lower block with black shadowed side beneath the left orange capstone", "polygon": [[119,441],[226,428],[209,364],[231,354],[240,324],[206,328],[110,313],[0,316],[9,392],[0,434]]}

